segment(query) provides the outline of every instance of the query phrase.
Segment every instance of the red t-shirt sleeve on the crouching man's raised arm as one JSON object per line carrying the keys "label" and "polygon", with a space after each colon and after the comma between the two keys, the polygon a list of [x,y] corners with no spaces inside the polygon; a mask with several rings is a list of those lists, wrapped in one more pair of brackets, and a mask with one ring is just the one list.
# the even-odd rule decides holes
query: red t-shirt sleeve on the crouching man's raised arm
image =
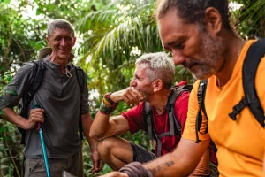
{"label": "red t-shirt sleeve on the crouching man's raised arm", "polygon": [[140,129],[145,129],[143,120],[143,103],[140,102],[137,106],[127,112],[122,112],[122,116],[128,120],[131,134],[138,132]]}

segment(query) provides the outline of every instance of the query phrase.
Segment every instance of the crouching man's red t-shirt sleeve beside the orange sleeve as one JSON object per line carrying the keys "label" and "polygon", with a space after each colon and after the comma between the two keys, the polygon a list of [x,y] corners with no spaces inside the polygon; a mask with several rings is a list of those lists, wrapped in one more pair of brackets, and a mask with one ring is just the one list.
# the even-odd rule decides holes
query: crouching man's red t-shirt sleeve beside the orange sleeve
{"label": "crouching man's red t-shirt sleeve beside the orange sleeve", "polygon": [[189,96],[190,92],[182,92],[178,96],[177,101],[175,103],[175,115],[181,127],[181,134],[183,134],[185,129]]}

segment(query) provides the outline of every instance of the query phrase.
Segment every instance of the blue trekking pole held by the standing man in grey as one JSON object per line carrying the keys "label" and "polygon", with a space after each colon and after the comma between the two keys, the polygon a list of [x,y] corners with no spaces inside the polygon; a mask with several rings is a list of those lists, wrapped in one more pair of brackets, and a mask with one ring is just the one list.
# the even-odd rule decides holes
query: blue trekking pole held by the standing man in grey
{"label": "blue trekking pole held by the standing man in grey", "polygon": [[[34,108],[41,108],[41,106],[39,104],[34,104],[32,106],[32,109],[34,109]],[[45,146],[45,142],[44,142],[42,124],[41,123],[38,123],[37,130],[39,130],[39,134],[40,134],[40,137],[41,137],[42,153],[43,153],[43,159],[44,159],[44,163],[45,163],[46,173],[47,173],[48,177],[51,177],[50,171],[49,171],[49,161],[48,161],[48,157],[47,157],[46,146]]]}

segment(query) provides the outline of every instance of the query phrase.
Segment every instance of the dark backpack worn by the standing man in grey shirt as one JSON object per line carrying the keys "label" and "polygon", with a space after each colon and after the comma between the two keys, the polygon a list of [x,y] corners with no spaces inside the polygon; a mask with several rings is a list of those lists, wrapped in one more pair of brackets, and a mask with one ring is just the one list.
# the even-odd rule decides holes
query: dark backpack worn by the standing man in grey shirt
{"label": "dark backpack worn by the standing man in grey shirt", "polygon": [[[30,83],[30,85],[27,87],[27,93],[22,96],[22,99],[20,100],[19,106],[18,106],[19,115],[24,118],[28,118],[29,116],[28,115],[29,112],[27,112],[29,103],[33,99],[34,94],[36,93],[37,89],[39,89],[39,87],[41,86],[43,73],[45,71],[44,62],[42,58],[38,60],[30,61],[30,62],[35,65],[34,70],[33,70],[34,79]],[[82,93],[82,87],[86,84],[87,76],[86,76],[86,73],[79,66],[74,65],[74,69],[77,75],[77,80],[79,82],[80,93]],[[26,130],[21,127],[18,127],[18,128],[21,134],[20,143],[26,144],[25,143]],[[84,136],[83,136],[83,130],[82,130],[81,111],[79,112],[79,136],[80,136],[80,139],[83,140]]]}

